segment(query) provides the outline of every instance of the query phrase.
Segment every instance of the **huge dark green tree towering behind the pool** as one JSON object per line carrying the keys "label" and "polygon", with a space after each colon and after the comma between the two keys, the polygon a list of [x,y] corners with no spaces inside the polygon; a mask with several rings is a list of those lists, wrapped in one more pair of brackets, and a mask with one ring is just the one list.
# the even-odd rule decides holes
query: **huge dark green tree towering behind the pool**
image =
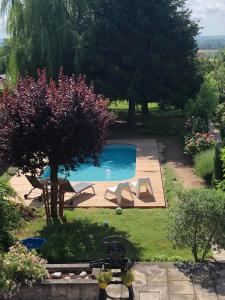
{"label": "huge dark green tree towering behind the pool", "polygon": [[[85,74],[110,99],[147,111],[150,100],[183,107],[199,88],[198,26],[183,0],[99,0],[87,39]],[[85,66],[86,63],[86,66]]]}

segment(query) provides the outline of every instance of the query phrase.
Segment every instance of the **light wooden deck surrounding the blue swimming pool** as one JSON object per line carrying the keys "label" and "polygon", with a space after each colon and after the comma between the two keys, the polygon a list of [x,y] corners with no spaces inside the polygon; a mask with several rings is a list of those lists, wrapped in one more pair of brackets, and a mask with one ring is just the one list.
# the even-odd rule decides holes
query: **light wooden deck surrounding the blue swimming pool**
{"label": "light wooden deck surrounding the blue swimming pool", "polygon": [[[124,143],[133,144],[137,146],[136,159],[136,175],[131,178],[129,182],[134,181],[140,177],[150,177],[154,197],[143,191],[140,197],[137,198],[135,194],[134,201],[131,196],[124,192],[122,199],[122,207],[127,208],[156,208],[165,207],[165,197],[163,190],[161,166],[159,160],[158,143],[156,139],[140,139],[140,140],[110,140],[109,143]],[[14,176],[11,179],[11,185],[16,190],[18,196],[23,199],[31,186],[25,176]],[[115,186],[118,182],[93,182],[95,184],[96,195],[92,191],[86,190],[82,194],[72,197],[71,194],[65,195],[65,207],[80,207],[80,208],[115,208],[118,206],[116,198],[108,194],[107,199],[104,198],[107,187]],[[28,200],[23,200],[24,204],[30,207],[40,207],[43,203],[38,201],[41,191],[35,190],[31,193]],[[71,205],[71,200],[73,204]]]}

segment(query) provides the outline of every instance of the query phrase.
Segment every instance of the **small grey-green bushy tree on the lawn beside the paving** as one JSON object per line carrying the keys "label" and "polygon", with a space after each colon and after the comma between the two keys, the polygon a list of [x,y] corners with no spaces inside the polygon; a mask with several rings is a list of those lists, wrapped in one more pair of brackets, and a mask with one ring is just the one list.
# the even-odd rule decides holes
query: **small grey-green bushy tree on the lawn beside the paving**
{"label": "small grey-green bushy tree on the lawn beside the paving", "polygon": [[171,212],[170,239],[191,248],[195,261],[204,261],[213,246],[225,246],[225,194],[219,190],[182,191]]}

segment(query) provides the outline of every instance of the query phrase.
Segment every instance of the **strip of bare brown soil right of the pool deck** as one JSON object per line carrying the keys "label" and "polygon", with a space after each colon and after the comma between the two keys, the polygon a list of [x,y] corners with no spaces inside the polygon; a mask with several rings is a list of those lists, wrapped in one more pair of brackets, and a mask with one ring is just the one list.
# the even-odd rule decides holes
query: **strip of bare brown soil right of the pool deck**
{"label": "strip of bare brown soil right of the pool deck", "polygon": [[160,138],[163,163],[167,163],[185,188],[204,186],[202,178],[194,173],[191,159],[183,154],[183,147],[175,137]]}

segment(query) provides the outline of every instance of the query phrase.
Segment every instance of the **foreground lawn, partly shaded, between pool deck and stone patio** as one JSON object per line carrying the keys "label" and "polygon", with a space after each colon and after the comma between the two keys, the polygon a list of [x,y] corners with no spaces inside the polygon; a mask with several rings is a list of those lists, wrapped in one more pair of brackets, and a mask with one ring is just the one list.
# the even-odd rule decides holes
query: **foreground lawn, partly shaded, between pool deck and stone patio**
{"label": "foreground lawn, partly shaded, between pool deck and stone patio", "polygon": [[[171,170],[165,167],[165,192],[172,204],[179,183]],[[169,209],[124,209],[117,215],[114,209],[65,210],[67,222],[46,227],[44,211],[39,217],[26,223],[18,237],[42,236],[48,243],[42,255],[49,262],[71,263],[98,258],[101,253],[100,241],[110,235],[127,237],[141,261],[154,260],[155,256],[180,256],[191,259],[189,249],[174,249],[168,240]],[[104,222],[109,227],[104,226]]]}

